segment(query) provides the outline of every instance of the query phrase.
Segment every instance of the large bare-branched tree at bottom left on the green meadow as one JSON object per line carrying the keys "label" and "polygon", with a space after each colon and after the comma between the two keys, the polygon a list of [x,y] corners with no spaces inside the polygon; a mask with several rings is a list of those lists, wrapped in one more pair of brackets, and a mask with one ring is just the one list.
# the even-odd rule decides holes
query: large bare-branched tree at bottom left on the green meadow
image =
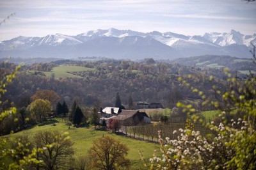
{"label": "large bare-branched tree at bottom left on the green meadow", "polygon": [[38,132],[35,137],[36,148],[44,148],[37,152],[36,158],[42,160],[35,164],[36,169],[67,169],[68,159],[74,155],[72,141],[67,134],[60,134],[58,131]]}

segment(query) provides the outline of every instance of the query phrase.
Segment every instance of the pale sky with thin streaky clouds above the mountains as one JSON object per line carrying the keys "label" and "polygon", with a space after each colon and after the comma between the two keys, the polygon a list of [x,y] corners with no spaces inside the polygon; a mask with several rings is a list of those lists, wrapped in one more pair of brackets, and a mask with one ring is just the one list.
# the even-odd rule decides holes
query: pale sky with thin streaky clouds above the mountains
{"label": "pale sky with thin streaky clouds above the mountains", "polygon": [[[9,19],[9,15],[15,13]],[[5,22],[2,22],[4,19]],[[78,35],[131,29],[204,35],[256,33],[256,1],[243,0],[0,0],[0,41],[17,36]]]}

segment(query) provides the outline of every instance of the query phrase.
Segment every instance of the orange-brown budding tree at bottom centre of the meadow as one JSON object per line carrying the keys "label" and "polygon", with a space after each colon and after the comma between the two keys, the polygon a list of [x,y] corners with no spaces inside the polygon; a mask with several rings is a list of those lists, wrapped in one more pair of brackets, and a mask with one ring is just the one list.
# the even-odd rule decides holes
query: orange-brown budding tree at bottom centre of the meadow
{"label": "orange-brown budding tree at bottom centre of the meadow", "polygon": [[93,167],[97,169],[125,169],[130,160],[125,158],[128,148],[125,144],[116,141],[108,135],[95,139],[91,148]]}

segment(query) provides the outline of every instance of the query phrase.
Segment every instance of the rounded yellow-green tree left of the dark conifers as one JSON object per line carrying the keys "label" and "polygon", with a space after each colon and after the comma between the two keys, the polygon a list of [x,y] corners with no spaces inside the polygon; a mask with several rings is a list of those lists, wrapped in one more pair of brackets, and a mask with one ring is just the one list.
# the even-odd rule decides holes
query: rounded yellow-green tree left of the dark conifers
{"label": "rounded yellow-green tree left of the dark conifers", "polygon": [[29,105],[29,111],[36,118],[36,121],[42,123],[42,121],[52,112],[51,103],[49,100],[36,99]]}

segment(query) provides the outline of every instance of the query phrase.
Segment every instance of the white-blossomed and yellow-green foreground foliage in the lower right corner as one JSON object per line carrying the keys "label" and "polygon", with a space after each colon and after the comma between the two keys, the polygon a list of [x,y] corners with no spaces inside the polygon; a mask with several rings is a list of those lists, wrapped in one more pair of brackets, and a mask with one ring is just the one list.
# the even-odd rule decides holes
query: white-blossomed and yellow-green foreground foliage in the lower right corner
{"label": "white-blossomed and yellow-green foreground foliage in the lower right corner", "polygon": [[[190,89],[198,93],[204,105],[216,107],[220,119],[207,123],[205,127],[212,130],[207,135],[193,129],[193,123],[201,122],[197,116],[191,116],[187,129],[179,129],[177,139],[166,140],[159,132],[162,157],[150,158],[150,169],[253,169],[256,164],[256,78],[238,81],[227,72],[228,87],[221,92],[212,86],[214,96],[208,97],[197,88]],[[193,75],[188,75],[193,79]],[[209,81],[212,81],[210,77]],[[185,86],[190,86],[186,79],[180,78]],[[191,105],[177,104],[184,112],[193,114]],[[236,114],[232,115],[236,108]],[[176,131],[173,131],[176,133]]]}

